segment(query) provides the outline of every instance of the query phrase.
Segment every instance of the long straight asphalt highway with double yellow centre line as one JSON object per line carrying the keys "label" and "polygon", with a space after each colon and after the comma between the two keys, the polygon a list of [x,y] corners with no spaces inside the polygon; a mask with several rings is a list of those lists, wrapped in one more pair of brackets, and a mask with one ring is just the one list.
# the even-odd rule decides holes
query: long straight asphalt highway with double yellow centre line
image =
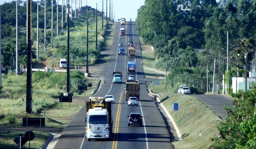
{"label": "long straight asphalt highway with double yellow centre line", "polygon": [[[166,124],[158,108],[148,95],[146,81],[141,65],[141,49],[139,45],[139,35],[136,31],[136,24],[127,21],[126,25],[115,22],[115,32],[112,48],[109,51],[109,61],[104,72],[106,86],[102,86],[94,96],[105,96],[107,94],[115,97],[113,104],[113,133],[110,140],[91,140],[85,138],[85,106],[75,115],[67,128],[62,132],[59,141],[54,149],[173,149],[170,135]],[[126,29],[126,36],[119,38],[120,27]],[[134,38],[136,47],[136,58],[128,58],[128,37]],[[125,55],[118,55],[118,43],[122,42]],[[139,106],[128,106],[125,100],[125,81],[128,80],[127,61],[136,61],[135,80],[140,81],[140,103]],[[112,72],[120,71],[123,74],[121,84],[113,84]],[[128,127],[128,117],[131,112],[141,113],[143,116],[143,126],[131,125]]]}

